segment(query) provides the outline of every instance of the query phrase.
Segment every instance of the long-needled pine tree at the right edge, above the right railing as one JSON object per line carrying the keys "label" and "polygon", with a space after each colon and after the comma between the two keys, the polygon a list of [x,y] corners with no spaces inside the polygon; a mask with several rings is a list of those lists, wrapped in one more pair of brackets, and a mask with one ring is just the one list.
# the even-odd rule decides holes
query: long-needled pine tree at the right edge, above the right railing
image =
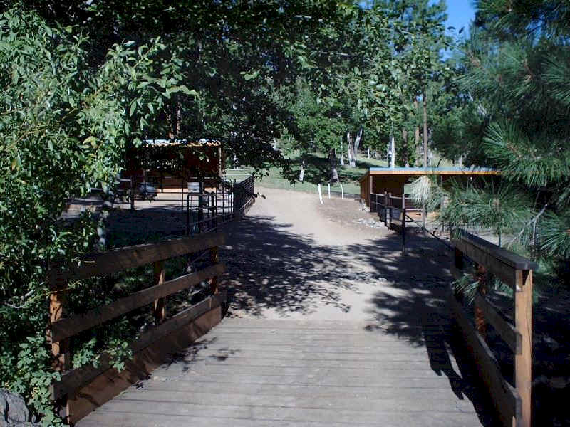
{"label": "long-needled pine tree at the right edge, above the right railing", "polygon": [[[552,261],[559,278],[568,283],[570,4],[480,0],[475,24],[463,46],[466,73],[460,83],[472,99],[473,113],[462,135],[480,149],[466,154],[470,164],[499,169],[507,183],[495,190],[493,199],[503,206],[508,186],[504,209],[520,214],[518,221],[504,224],[503,231],[512,236],[507,245],[533,249],[537,258]],[[478,135],[470,132],[477,128],[482,130]],[[473,143],[477,139],[480,144]],[[493,191],[489,186],[484,190]],[[462,196],[452,197],[458,201]],[[488,204],[489,197],[471,201]],[[444,210],[447,221],[465,221],[465,209],[450,206],[457,211]],[[469,218],[472,223],[488,219]]]}

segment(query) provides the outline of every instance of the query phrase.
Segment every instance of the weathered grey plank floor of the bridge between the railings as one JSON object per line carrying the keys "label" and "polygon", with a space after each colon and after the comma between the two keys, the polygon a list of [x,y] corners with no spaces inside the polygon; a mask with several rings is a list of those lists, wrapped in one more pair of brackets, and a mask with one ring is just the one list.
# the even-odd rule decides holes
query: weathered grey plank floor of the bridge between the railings
{"label": "weathered grey plank floor of the bridge between the railings", "polygon": [[441,325],[420,328],[226,319],[78,426],[480,426]]}

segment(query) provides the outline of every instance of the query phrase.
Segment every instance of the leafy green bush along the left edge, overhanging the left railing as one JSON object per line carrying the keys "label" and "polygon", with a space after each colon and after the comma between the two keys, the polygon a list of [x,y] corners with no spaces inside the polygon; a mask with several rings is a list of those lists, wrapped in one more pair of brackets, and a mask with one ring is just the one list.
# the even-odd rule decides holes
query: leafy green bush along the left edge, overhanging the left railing
{"label": "leafy green bush along the left edge, overhanging the left railing", "polygon": [[[115,45],[92,69],[78,28],[51,28],[19,7],[0,15],[0,28],[0,387],[22,394],[51,425],[61,420],[48,392],[58,374],[46,340],[46,271],[98,238],[89,214],[58,218],[91,187],[112,191],[125,145],[138,142],[165,97],[188,90],[160,60],[159,40]],[[87,283],[71,285],[77,301],[89,297]],[[96,359],[89,343],[78,362]],[[124,357],[124,340],[114,344]]]}

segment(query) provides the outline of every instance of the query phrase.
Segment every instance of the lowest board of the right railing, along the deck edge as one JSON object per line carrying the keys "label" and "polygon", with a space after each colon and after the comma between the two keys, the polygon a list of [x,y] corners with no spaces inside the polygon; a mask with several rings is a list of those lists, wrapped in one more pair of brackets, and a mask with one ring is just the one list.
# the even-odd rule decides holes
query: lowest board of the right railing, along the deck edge
{"label": "lowest board of the right railing, along the deck edge", "polygon": [[512,427],[513,417],[519,419],[521,413],[521,398],[507,381],[504,380],[497,359],[495,359],[487,343],[477,333],[471,321],[465,314],[462,305],[457,302],[452,293],[449,298],[452,312],[461,327],[465,337],[467,349],[475,359],[475,366],[481,375],[481,379],[487,385],[497,414],[505,427]]}

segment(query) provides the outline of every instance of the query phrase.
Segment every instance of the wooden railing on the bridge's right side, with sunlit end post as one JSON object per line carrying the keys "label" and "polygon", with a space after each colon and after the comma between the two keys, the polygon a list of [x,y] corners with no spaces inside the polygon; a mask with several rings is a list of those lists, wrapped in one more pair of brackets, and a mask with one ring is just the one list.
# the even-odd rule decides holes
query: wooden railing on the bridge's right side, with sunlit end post
{"label": "wooden railing on the bridge's right side, with sunlit end post", "polygon": [[[532,270],[537,264],[506,251],[482,238],[462,231],[452,238],[455,246],[455,261],[452,273],[460,279],[465,273],[465,257],[475,263],[475,279],[478,289],[474,297],[475,327],[467,317],[462,292],[450,297],[450,305],[465,342],[475,359],[481,378],[487,385],[499,418],[504,426],[531,426],[532,386]],[[514,325],[499,307],[490,302],[487,293],[487,273],[492,273],[514,290]],[[514,352],[514,387],[509,384],[499,369],[497,360],[487,342],[489,322],[504,342]]]}

